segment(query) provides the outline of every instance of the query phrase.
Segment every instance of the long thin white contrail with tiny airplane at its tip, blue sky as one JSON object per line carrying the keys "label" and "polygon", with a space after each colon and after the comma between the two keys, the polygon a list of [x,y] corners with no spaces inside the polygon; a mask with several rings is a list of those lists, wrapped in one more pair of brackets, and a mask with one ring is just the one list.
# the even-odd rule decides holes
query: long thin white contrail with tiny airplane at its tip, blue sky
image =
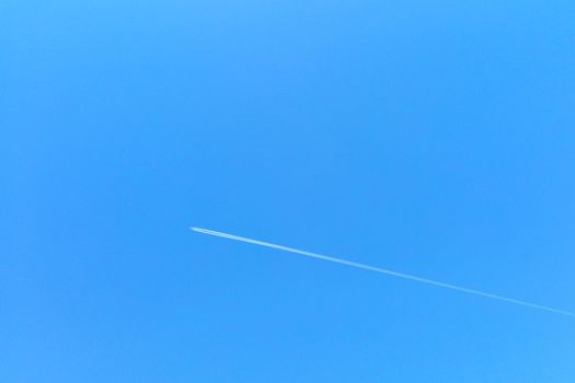
{"label": "long thin white contrail with tiny airplane at its tip, blue sky", "polygon": [[503,297],[503,295],[492,294],[490,292],[484,292],[484,291],[480,291],[480,290],[468,289],[468,288],[464,288],[464,287],[461,287],[461,286],[456,286],[456,285],[451,285],[451,283],[445,283],[445,282],[440,282],[440,281],[433,280],[433,279],[427,279],[427,278],[422,278],[422,277],[417,277],[417,276],[412,276],[412,275],[409,275],[409,274],[398,272],[398,271],[389,270],[389,269],[381,268],[381,267],[359,264],[357,262],[352,262],[352,260],[342,259],[342,258],[335,258],[335,257],[331,257],[331,256],[327,256],[327,255],[321,255],[321,254],[317,254],[317,253],[306,252],[306,251],[298,249],[298,248],[276,245],[276,244],[273,244],[273,243],[269,243],[269,242],[263,242],[263,241],[246,239],[246,237],[243,237],[243,236],[227,234],[227,233],[222,233],[222,232],[219,232],[219,231],[200,229],[200,228],[189,228],[189,229],[192,229],[193,231],[196,231],[198,233],[203,233],[203,234],[220,236],[220,237],[223,237],[223,239],[233,240],[233,241],[240,241],[240,242],[245,242],[245,243],[251,243],[251,244],[260,245],[260,246],[272,247],[272,248],[280,249],[280,251],[284,251],[284,252],[289,252],[289,253],[296,253],[296,254],[304,255],[304,256],[311,257],[311,258],[333,262],[335,264],[346,265],[346,266],[350,266],[350,267],[355,267],[355,268],[359,268],[359,269],[364,269],[364,270],[369,270],[369,271],[376,271],[376,272],[384,274],[384,275],[392,276],[392,277],[398,277],[398,278],[414,280],[416,282],[422,282],[422,283],[426,283],[426,285],[437,286],[437,287],[440,287],[440,288],[444,288],[444,289],[456,290],[456,291],[464,292],[464,293],[468,293],[468,294],[496,299],[498,301],[503,301],[503,302],[507,302],[507,303],[519,304],[519,305],[528,306],[528,307],[531,307],[531,309],[538,309],[538,310],[552,312],[552,313],[555,313],[555,314],[562,314],[562,315],[567,315],[567,316],[575,317],[575,313],[572,313],[572,312],[568,312],[568,311],[553,309],[553,307],[544,306],[544,305],[541,305],[541,304],[530,303],[530,302],[526,302],[526,301],[521,301],[521,300],[513,299],[513,298],[507,298],[507,297]]}

